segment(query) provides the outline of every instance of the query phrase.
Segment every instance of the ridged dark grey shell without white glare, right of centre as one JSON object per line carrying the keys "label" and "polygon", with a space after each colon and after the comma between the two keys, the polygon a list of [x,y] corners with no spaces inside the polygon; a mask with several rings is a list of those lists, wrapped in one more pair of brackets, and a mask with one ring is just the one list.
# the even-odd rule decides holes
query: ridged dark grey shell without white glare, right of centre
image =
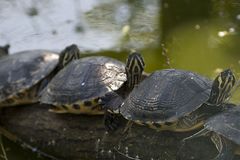
{"label": "ridged dark grey shell without white glare, right of centre", "polygon": [[212,82],[196,73],[165,69],[153,72],[129,94],[120,113],[140,122],[173,122],[209,98]]}

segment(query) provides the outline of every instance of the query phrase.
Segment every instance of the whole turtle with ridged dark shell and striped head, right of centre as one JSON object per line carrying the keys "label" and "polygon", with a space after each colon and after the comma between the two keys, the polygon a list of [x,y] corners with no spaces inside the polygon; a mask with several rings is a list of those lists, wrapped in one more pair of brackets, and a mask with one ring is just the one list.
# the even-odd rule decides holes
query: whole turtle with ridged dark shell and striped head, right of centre
{"label": "whole turtle with ridged dark shell and striped head, right of centre", "polygon": [[[221,72],[213,82],[191,71],[163,69],[145,78],[126,99],[115,94],[104,107],[129,120],[127,128],[135,122],[157,131],[186,132],[201,127],[208,117],[221,112],[234,84],[230,69]],[[111,123],[106,124],[106,128],[116,129]]]}

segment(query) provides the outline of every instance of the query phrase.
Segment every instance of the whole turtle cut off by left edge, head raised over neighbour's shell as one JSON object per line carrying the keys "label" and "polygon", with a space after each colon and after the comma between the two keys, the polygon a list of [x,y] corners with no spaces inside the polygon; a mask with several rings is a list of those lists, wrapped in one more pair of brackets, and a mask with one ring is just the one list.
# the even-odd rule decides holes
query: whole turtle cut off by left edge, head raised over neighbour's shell
{"label": "whole turtle cut off by left edge, head raised over neighbour's shell", "polygon": [[74,59],[78,47],[66,47],[60,55],[48,50],[28,50],[0,59],[0,108],[38,102],[39,93],[52,77]]}

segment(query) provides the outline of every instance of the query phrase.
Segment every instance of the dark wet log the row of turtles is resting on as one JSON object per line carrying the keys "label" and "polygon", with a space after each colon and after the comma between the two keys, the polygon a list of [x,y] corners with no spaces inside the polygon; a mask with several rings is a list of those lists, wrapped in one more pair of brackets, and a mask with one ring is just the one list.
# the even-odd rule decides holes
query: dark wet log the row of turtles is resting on
{"label": "dark wet log the row of turtles is resting on", "polygon": [[[182,138],[193,134],[156,132],[137,125],[126,134],[124,119],[116,132],[107,133],[103,116],[54,114],[39,104],[3,109],[0,124],[16,136],[8,136],[10,139],[68,160],[176,159]],[[214,150],[208,149],[204,154],[212,153]]]}

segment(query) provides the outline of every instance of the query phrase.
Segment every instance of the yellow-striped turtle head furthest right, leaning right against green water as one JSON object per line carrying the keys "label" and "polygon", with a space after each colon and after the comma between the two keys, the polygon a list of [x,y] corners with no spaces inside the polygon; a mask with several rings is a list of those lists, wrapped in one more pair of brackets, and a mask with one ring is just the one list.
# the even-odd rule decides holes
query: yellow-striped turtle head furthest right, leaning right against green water
{"label": "yellow-striped turtle head furthest right, leaning right against green water", "polygon": [[222,71],[213,81],[208,102],[213,105],[221,105],[230,96],[234,84],[235,76],[231,69]]}

